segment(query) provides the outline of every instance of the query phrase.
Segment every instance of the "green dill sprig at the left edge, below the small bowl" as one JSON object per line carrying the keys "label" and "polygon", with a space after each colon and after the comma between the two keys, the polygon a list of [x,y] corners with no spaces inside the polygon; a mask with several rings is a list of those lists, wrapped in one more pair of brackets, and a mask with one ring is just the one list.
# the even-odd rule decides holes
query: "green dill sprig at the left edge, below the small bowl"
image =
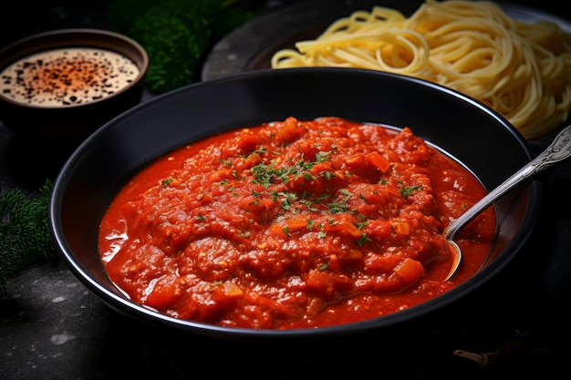
{"label": "green dill sprig at the left edge, below the small bowl", "polygon": [[47,223],[51,188],[47,180],[35,199],[19,189],[0,192],[0,293],[18,272],[56,256]]}

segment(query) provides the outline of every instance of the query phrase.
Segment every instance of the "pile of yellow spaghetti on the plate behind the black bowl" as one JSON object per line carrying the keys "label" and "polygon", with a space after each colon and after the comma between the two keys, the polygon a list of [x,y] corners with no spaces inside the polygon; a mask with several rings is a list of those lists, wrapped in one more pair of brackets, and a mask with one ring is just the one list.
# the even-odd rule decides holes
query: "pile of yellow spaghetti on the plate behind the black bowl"
{"label": "pile of yellow spaghetti on the plate behind the black bowl", "polygon": [[420,77],[480,100],[525,139],[560,127],[571,108],[571,36],[555,22],[515,20],[488,1],[426,0],[410,17],[374,6],[275,52],[271,64]]}

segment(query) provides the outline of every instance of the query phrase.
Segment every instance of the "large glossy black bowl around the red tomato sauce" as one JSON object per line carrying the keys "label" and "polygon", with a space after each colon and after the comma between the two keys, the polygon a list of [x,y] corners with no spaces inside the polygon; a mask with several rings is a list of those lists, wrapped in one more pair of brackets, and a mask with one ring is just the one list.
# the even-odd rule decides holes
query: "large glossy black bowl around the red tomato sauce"
{"label": "large glossy black bowl around the red tomato sauce", "polygon": [[[458,301],[521,250],[540,204],[536,180],[496,202],[498,236],[483,268],[449,293],[365,322],[301,330],[253,330],[177,320],[131,302],[109,281],[98,252],[99,221],[119,188],[152,159],[213,133],[281,120],[338,116],[402,128],[450,152],[492,189],[530,159],[504,118],[460,93],[410,77],[359,69],[260,70],[172,91],[130,109],[91,135],[54,184],[49,223],[69,269],[112,309],[150,324],[215,337],[282,339],[389,328]],[[271,338],[271,339],[270,339]]]}

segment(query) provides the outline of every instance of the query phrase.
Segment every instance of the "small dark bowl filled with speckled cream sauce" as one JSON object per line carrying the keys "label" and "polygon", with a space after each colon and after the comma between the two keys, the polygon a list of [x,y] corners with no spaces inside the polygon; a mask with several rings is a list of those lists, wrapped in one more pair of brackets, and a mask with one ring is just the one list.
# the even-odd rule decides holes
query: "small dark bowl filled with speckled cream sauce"
{"label": "small dark bowl filled with speckled cream sauce", "polygon": [[83,139],[140,102],[149,57],[127,36],[62,29],[0,50],[0,120],[30,138]]}

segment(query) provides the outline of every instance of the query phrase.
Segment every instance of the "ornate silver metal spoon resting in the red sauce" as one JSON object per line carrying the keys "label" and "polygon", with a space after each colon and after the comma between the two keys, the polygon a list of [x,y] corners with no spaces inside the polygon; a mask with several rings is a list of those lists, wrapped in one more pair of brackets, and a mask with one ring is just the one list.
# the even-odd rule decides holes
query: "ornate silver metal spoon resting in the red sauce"
{"label": "ornate silver metal spoon resting in the red sauce", "polygon": [[458,271],[460,263],[462,262],[462,252],[458,244],[453,239],[456,233],[472,221],[480,212],[487,209],[494,201],[501,198],[506,192],[514,189],[516,185],[524,180],[529,179],[540,171],[547,169],[561,161],[568,159],[571,156],[571,126],[567,126],[555,136],[553,142],[541,152],[535,159],[532,159],[512,175],[512,177],[505,180],[494,190],[490,191],[482,200],[479,200],[468,211],[464,212],[458,219],[452,221],[446,231],[444,237],[449,241],[452,246],[452,253],[454,254],[454,261],[452,268],[444,281],[450,278]]}

